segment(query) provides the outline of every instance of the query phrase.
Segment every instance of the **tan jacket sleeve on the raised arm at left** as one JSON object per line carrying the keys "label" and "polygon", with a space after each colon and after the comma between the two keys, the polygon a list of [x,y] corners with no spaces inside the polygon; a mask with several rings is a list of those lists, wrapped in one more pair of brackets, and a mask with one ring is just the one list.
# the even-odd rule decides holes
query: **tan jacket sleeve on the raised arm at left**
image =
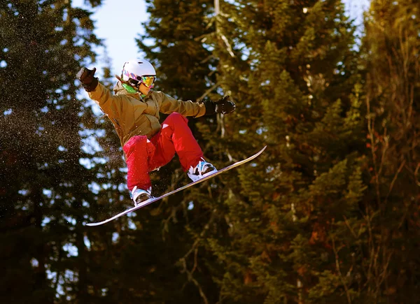
{"label": "tan jacket sleeve on the raised arm at left", "polygon": [[88,92],[90,99],[104,111],[109,117],[120,117],[123,112],[125,102],[123,96],[113,95],[112,92],[104,87],[102,83],[98,83],[96,89]]}

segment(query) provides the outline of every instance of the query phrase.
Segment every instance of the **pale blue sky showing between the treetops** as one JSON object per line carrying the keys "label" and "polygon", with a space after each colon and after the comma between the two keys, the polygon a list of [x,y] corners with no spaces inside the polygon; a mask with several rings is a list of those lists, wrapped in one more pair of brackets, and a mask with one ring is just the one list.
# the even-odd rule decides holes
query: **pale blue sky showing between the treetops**
{"label": "pale blue sky showing between the treetops", "polygon": [[[349,15],[356,18],[356,24],[361,24],[363,9],[367,8],[369,0],[343,1]],[[83,6],[83,2],[72,1],[73,6]],[[102,6],[95,8],[92,19],[96,26],[94,33],[104,39],[106,52],[111,59],[111,73],[119,74],[128,59],[142,57],[134,39],[144,33],[141,23],[148,20],[144,0],[104,0]],[[104,49],[101,48],[98,62],[93,64],[98,68],[99,75],[104,59]]]}

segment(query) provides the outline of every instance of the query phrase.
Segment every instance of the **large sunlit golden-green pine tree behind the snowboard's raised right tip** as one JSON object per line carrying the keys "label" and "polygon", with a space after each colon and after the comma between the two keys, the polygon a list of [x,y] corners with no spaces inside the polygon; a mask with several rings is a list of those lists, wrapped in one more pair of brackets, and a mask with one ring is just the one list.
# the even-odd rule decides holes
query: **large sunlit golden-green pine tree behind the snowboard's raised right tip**
{"label": "large sunlit golden-green pine tree behind the snowboard's raised right tip", "polygon": [[269,144],[239,181],[231,173],[219,186],[230,228],[208,242],[225,266],[221,297],[350,302],[356,240],[347,225],[360,221],[365,190],[354,28],[339,1],[235,1],[221,11],[231,49],[216,48],[218,79],[237,102],[225,151],[241,159]]}

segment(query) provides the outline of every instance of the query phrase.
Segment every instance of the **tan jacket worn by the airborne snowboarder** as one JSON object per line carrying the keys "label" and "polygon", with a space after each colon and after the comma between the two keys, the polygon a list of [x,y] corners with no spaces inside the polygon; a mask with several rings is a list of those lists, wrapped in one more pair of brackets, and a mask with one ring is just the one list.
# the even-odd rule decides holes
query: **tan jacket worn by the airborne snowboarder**
{"label": "tan jacket worn by the airborne snowboarder", "polygon": [[89,96],[101,107],[116,128],[121,145],[133,136],[146,135],[151,138],[160,131],[159,112],[173,112],[184,116],[200,117],[206,113],[203,103],[181,101],[163,92],[151,91],[141,98],[139,93],[130,94],[118,81],[115,95],[100,82]]}

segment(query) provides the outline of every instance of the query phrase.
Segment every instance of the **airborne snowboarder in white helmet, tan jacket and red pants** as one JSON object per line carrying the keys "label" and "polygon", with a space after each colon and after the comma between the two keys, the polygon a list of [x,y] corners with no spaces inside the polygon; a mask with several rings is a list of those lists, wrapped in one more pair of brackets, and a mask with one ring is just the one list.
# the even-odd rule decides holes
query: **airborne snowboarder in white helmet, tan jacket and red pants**
{"label": "airborne snowboarder in white helmet, tan jacket and red pants", "polygon": [[[186,116],[200,117],[232,113],[235,103],[225,96],[218,101],[181,101],[160,91],[153,91],[156,72],[144,59],[125,62],[116,75],[115,94],[94,77],[96,68],[81,68],[80,80],[90,99],[99,105],[113,123],[127,163],[127,187],[134,205],[153,198],[149,173],[169,163],[178,154],[183,171],[199,180],[216,168],[205,161],[203,152],[188,127]],[[159,113],[169,114],[160,124]]]}

